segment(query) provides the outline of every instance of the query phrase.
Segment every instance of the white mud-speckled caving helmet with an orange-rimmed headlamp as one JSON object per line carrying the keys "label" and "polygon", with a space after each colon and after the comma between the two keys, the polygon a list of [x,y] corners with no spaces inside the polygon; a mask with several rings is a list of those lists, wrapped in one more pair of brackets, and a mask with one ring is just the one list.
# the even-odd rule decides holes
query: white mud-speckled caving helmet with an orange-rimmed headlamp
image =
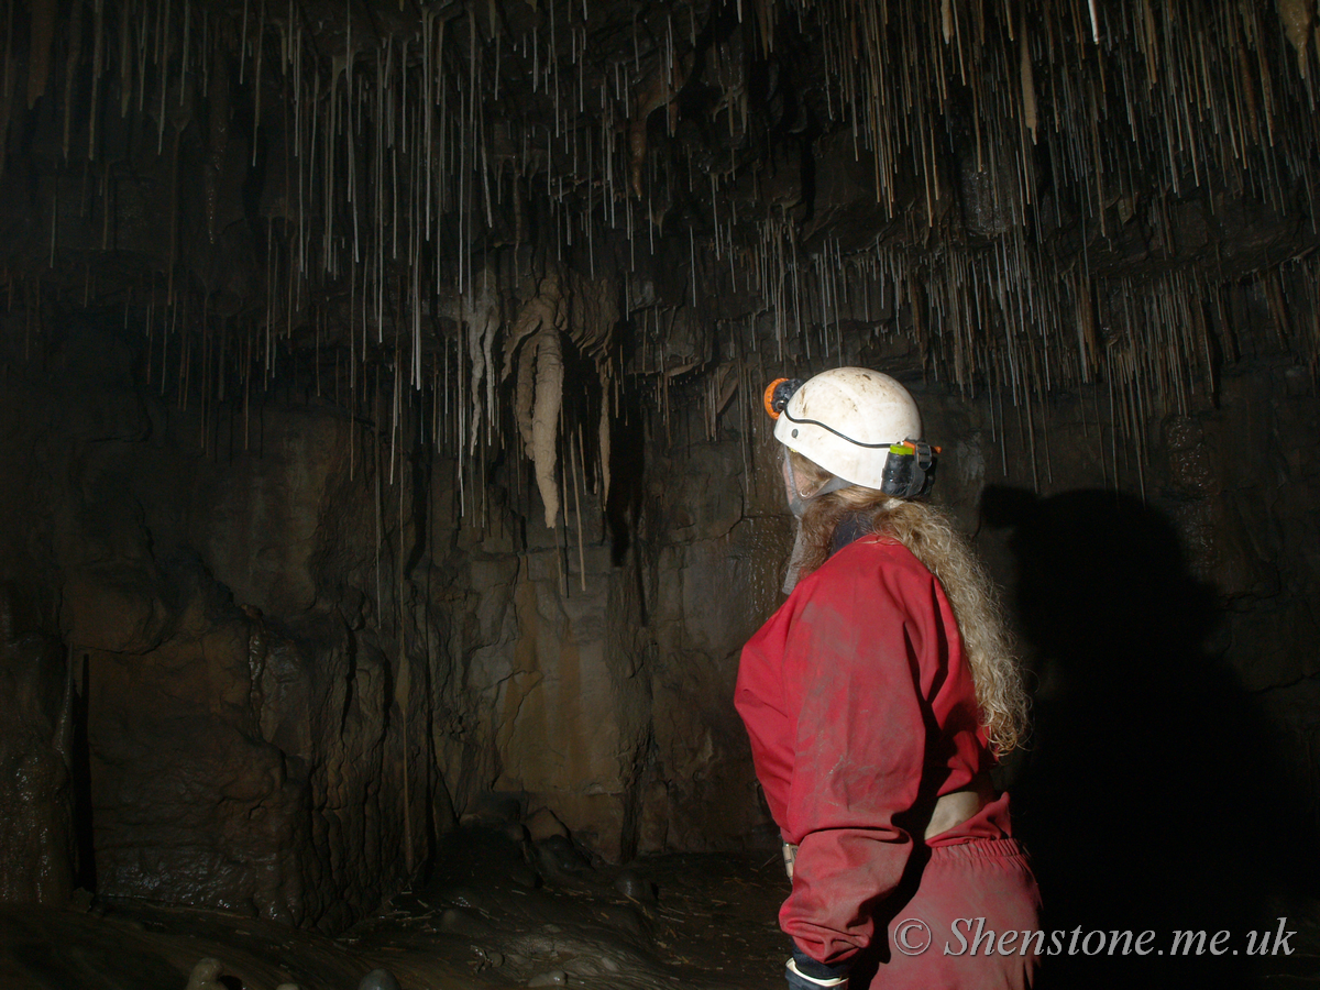
{"label": "white mud-speckled caving helmet with an orange-rimmed headlamp", "polygon": [[845,482],[899,498],[923,495],[935,471],[921,416],[903,385],[870,368],[832,368],[766,389],[775,440]]}

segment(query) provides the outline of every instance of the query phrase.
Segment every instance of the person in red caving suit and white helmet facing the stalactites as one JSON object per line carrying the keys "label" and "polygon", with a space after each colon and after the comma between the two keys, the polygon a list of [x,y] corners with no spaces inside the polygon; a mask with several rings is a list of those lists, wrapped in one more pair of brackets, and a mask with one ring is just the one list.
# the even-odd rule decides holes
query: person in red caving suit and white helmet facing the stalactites
{"label": "person in red caving suit and white helmet facing the stalactites", "polygon": [[867,368],[781,379],[766,407],[797,540],[734,701],[792,882],[788,985],[1024,987],[1039,945],[973,940],[1039,928],[989,779],[1026,693],[985,570],[921,500],[939,451],[907,389]]}

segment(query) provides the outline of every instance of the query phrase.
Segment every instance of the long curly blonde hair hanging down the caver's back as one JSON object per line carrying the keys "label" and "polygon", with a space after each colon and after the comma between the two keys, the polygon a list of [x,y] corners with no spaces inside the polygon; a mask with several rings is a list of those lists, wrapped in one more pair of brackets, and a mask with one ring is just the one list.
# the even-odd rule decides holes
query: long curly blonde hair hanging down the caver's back
{"label": "long curly blonde hair hanging down the caver's back", "polygon": [[1022,668],[994,582],[952,520],[928,503],[896,499],[859,484],[812,498],[832,475],[796,451],[788,455],[799,492],[809,499],[801,520],[799,577],[829,558],[834,531],[849,516],[861,523],[863,532],[907,546],[935,574],[953,606],[991,751],[1002,758],[1018,748],[1026,742],[1028,725]]}

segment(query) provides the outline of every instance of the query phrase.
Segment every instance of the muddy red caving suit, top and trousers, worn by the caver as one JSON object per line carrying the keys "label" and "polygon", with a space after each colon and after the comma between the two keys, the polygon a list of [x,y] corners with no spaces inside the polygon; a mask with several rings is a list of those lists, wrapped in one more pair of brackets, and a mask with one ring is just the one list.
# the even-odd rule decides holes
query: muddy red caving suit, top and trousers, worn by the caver
{"label": "muddy red caving suit, top and trousers, worn by the caver", "polygon": [[[799,846],[779,920],[803,952],[850,960],[879,924],[875,990],[1030,983],[1036,958],[1015,944],[986,956],[982,939],[970,954],[975,919],[982,933],[1038,928],[1008,796],[921,838],[936,799],[994,756],[953,609],[906,546],[866,536],[803,578],[743,648],[735,705],[771,814]],[[929,948],[895,952],[894,927],[912,917]],[[957,919],[970,919],[964,941]],[[904,936],[920,944],[920,929]]]}

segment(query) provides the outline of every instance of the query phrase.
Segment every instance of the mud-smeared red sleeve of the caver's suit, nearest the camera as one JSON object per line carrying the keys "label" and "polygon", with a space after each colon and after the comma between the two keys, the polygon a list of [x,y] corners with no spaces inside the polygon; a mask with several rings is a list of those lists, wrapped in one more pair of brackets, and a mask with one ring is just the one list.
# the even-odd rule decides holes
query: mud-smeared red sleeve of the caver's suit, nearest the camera
{"label": "mud-smeared red sleeve of the caver's suit, nearest the camera", "polygon": [[907,867],[913,838],[895,816],[919,800],[936,729],[925,700],[948,669],[946,630],[957,638],[936,579],[892,549],[841,550],[739,664],[735,704],[756,774],[784,838],[799,845],[780,925],[821,962],[870,944],[870,908]]}

